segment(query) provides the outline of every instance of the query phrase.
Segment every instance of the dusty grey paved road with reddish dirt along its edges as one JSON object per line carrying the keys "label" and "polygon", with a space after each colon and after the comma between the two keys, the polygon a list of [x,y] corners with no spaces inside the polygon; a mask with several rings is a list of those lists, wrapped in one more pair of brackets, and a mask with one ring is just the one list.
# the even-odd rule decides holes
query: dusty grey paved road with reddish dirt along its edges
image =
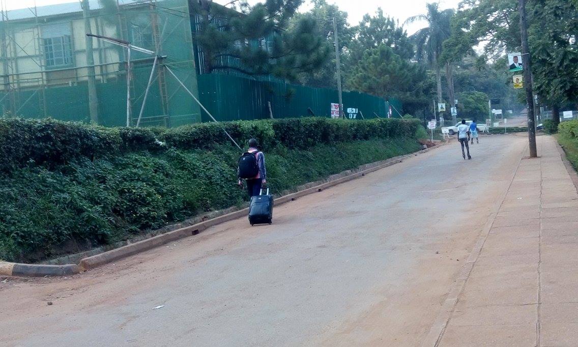
{"label": "dusty grey paved road with reddish dirt along its edges", "polygon": [[483,137],[467,162],[453,143],[278,206],[273,226],[236,220],[73,278],[10,279],[0,344],[420,344],[526,141]]}

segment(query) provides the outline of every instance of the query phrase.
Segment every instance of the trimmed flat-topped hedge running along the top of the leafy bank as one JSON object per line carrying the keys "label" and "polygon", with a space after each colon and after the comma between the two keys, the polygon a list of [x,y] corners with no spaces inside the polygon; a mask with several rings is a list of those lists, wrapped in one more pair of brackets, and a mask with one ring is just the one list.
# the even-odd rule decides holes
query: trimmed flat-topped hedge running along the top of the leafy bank
{"label": "trimmed flat-topped hedge running along the top of the leafy bank", "polygon": [[[0,120],[0,171],[18,167],[69,163],[73,159],[95,160],[140,150],[208,149],[230,143],[229,134],[243,146],[257,138],[265,149],[277,145],[306,149],[317,144],[366,139],[413,137],[417,120],[335,120],[320,117],[200,123],[178,128],[105,128],[56,120]],[[221,128],[223,127],[223,128]],[[166,146],[162,146],[161,143]]]}

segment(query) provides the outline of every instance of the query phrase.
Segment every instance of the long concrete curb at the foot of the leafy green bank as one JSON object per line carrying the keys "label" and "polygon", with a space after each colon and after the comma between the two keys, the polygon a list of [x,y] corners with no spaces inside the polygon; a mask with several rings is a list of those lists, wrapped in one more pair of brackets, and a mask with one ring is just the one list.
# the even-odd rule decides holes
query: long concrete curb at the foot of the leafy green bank
{"label": "long concrete curb at the foot of the leafy green bank", "polygon": [[[412,154],[406,154],[395,158],[394,160],[386,161],[382,164],[375,165],[374,167],[362,169],[360,171],[354,172],[353,174],[344,176],[342,178],[334,179],[329,182],[318,184],[317,186],[310,187],[296,193],[284,195],[282,197],[276,198],[273,202],[275,205],[285,204],[286,202],[294,201],[299,197],[305,195],[317,193],[319,191],[325,190],[329,187],[336,186],[338,184],[349,182],[369,174],[370,172],[375,172],[377,170],[390,167],[391,165],[402,163],[403,160],[409,157],[415,157],[419,154],[427,153],[430,150],[436,149],[443,146],[444,143],[439,143],[428,149],[423,149]],[[362,167],[367,167],[365,164]],[[91,270],[97,268],[101,265],[112,263],[113,261],[123,259],[129,256],[133,256],[140,252],[156,248],[158,246],[165,245],[166,243],[176,241],[177,239],[190,237],[192,235],[197,235],[206,229],[216,226],[217,224],[229,222],[231,220],[239,219],[244,217],[249,213],[249,208],[240,209],[239,211],[228,213],[227,215],[219,216],[213,219],[206,220],[201,223],[193,224],[191,226],[179,228],[177,230],[165,232],[164,234],[157,235],[148,239],[144,239],[139,242],[131,243],[129,245],[109,250],[108,252],[96,254],[95,256],[86,257],[80,260],[78,265],[76,264],[66,264],[66,265],[43,265],[43,264],[17,264],[8,263],[5,261],[0,261],[0,275],[5,276],[66,276],[79,274],[80,272]]]}

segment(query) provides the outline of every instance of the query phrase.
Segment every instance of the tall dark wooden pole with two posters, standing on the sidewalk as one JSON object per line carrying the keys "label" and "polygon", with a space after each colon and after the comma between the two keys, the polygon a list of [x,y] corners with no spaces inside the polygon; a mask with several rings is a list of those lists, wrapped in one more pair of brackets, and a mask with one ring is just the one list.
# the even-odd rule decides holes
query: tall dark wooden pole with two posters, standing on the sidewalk
{"label": "tall dark wooden pole with two posters, standing on the sidewalk", "polygon": [[520,34],[522,37],[522,64],[524,65],[524,84],[528,104],[528,144],[530,157],[538,157],[536,150],[536,117],[534,115],[534,97],[532,91],[532,63],[528,47],[528,23],[526,21],[526,0],[520,2]]}

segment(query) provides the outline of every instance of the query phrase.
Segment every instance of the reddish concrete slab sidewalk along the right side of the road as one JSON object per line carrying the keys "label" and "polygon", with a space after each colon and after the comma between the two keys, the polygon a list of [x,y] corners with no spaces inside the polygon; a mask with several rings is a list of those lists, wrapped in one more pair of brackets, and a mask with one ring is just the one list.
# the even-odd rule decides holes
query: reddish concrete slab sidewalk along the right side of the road
{"label": "reddish concrete slab sidewalk along the right side of the road", "polygon": [[578,194],[557,146],[539,136],[520,161],[430,344],[578,346]]}

